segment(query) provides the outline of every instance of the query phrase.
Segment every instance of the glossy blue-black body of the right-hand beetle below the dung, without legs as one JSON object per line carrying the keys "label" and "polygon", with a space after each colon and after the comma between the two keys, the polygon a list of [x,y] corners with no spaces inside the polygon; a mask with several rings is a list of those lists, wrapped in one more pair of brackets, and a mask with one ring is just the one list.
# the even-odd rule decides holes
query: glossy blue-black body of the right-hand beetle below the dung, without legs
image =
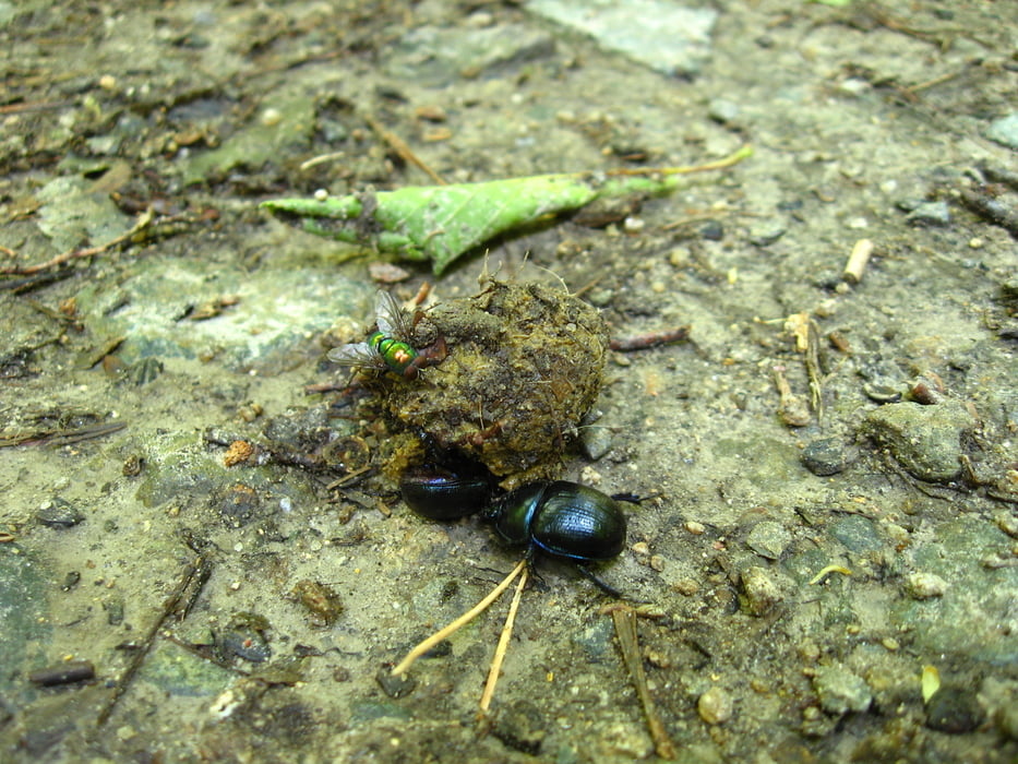
{"label": "glossy blue-black body of the right-hand beetle below the dung, without legs", "polygon": [[534,482],[488,514],[508,544],[529,544],[553,557],[610,560],[625,548],[625,515],[606,493],[577,482]]}

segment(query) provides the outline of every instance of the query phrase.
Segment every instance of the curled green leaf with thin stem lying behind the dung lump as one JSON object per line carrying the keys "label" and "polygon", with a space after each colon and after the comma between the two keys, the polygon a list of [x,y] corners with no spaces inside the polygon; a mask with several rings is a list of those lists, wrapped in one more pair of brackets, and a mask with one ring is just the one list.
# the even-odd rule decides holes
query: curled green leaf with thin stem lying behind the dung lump
{"label": "curled green leaf with thin stem lying behind the dung lump", "polygon": [[319,236],[408,260],[430,260],[438,276],[460,254],[546,215],[578,210],[600,198],[667,193],[678,186],[680,175],[727,167],[751,153],[744,147],[711,165],[639,175],[556,174],[410,186],[336,199],[277,199],[262,207]]}

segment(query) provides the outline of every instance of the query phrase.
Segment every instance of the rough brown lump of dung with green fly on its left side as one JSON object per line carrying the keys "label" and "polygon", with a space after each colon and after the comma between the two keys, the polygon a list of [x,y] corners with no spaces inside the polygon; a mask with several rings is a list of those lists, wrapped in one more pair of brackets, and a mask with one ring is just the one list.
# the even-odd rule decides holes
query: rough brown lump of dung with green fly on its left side
{"label": "rough brown lump of dung with green fly on its left side", "polygon": [[562,289],[492,280],[435,306],[427,323],[448,354],[417,380],[379,380],[393,429],[482,464],[505,488],[560,471],[601,386],[608,327],[598,311]]}

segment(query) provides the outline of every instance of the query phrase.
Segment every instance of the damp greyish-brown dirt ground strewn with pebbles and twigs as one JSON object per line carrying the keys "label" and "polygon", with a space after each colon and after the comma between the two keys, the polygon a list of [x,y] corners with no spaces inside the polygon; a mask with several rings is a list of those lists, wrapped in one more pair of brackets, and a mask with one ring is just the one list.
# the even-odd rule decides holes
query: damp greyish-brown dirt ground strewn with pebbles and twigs
{"label": "damp greyish-brown dirt ground strewn with pebbles and twigs", "polygon": [[[0,2],[0,759],[1018,759],[1018,3],[697,3],[671,70],[616,50],[649,7],[549,4]],[[433,182],[400,141],[448,182],[754,154],[440,278],[259,208]],[[690,326],[561,439],[650,497],[598,573],[668,741],[565,564],[487,718],[507,601],[385,676],[519,551],[407,510],[324,354],[380,279],[486,272]]]}

